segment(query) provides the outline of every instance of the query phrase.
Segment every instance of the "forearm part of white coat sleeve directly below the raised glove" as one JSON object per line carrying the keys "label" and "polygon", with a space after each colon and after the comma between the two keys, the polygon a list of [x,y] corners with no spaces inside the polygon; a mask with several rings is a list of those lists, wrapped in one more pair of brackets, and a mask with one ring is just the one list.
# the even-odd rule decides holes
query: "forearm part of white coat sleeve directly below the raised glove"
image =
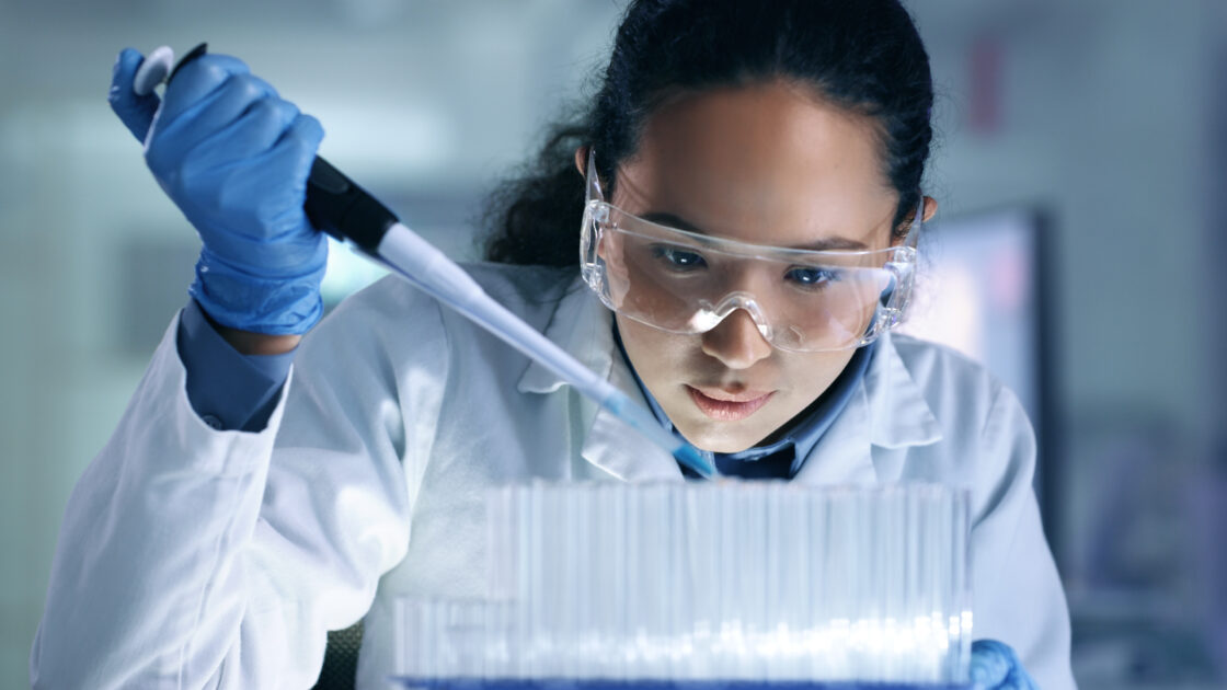
{"label": "forearm part of white coat sleeve directly below the raised glove", "polygon": [[[187,400],[173,327],[60,528],[31,653],[36,688],[184,688],[204,593],[249,540],[280,426],[218,432]],[[238,602],[234,602],[238,603]]]}

